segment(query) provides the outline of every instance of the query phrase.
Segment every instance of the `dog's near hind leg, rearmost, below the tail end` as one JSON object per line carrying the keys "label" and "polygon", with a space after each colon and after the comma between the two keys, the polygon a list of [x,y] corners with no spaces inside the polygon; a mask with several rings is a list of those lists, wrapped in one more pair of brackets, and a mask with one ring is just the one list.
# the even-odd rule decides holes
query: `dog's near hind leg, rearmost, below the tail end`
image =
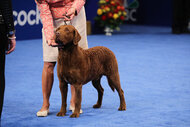
{"label": "dog's near hind leg, rearmost, below the tail end", "polygon": [[119,94],[120,106],[118,110],[120,111],[126,110],[125,97],[124,97],[124,92],[120,85],[119,73],[118,72],[113,73],[112,75],[107,76],[107,79],[108,79],[109,86],[111,88],[115,88]]}

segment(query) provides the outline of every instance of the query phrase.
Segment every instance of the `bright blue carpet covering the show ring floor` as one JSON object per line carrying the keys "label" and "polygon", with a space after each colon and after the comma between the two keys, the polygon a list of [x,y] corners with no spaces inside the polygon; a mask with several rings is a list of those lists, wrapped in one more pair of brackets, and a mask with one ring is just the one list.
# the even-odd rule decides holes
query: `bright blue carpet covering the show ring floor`
{"label": "bright blue carpet covering the show ring floor", "polygon": [[[55,70],[50,115],[36,117],[42,105],[42,44],[17,41],[6,60],[6,91],[2,127],[189,127],[190,36],[172,35],[167,27],[123,26],[113,36],[90,35],[89,47],[106,46],[116,55],[126,111],[118,111],[119,97],[102,79],[102,108],[93,109],[97,92],[83,86],[83,114],[77,119],[57,117],[61,96]],[[70,87],[68,105],[70,101]],[[68,109],[68,108],[67,108]]]}

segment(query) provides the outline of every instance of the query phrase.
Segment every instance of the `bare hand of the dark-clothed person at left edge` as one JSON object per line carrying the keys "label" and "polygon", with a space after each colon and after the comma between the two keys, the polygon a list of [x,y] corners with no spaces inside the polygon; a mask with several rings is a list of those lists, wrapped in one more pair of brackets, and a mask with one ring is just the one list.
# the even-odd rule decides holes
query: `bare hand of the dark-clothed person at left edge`
{"label": "bare hand of the dark-clothed person at left edge", "polygon": [[10,54],[11,52],[13,52],[15,50],[15,47],[16,47],[15,35],[13,35],[10,38],[12,38],[12,39],[8,39],[8,47],[7,47],[6,54]]}

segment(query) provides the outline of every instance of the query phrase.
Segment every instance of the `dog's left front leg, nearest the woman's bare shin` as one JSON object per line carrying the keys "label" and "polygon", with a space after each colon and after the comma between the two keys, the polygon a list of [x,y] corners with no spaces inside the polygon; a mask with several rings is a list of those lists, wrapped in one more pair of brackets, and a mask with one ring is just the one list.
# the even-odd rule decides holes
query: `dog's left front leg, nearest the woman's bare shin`
{"label": "dog's left front leg, nearest the woman's bare shin", "polygon": [[68,91],[68,84],[64,80],[59,81],[59,88],[61,91],[61,110],[57,113],[57,116],[65,116],[66,114],[66,107],[67,107],[67,91]]}

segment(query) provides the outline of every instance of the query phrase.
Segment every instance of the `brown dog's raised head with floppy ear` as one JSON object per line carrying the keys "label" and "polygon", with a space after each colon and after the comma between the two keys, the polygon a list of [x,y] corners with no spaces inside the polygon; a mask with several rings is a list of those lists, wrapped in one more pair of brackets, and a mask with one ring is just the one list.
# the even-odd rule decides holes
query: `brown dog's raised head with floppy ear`
{"label": "brown dog's raised head with floppy ear", "polygon": [[59,45],[78,45],[80,34],[72,25],[62,25],[55,31],[55,41]]}

